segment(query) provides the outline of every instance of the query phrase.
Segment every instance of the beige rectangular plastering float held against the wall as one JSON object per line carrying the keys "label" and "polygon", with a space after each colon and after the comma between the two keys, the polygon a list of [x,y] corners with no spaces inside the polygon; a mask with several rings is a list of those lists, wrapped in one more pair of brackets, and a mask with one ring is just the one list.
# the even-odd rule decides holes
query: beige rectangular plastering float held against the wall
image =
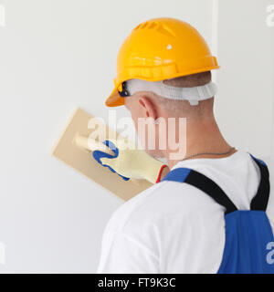
{"label": "beige rectangular plastering float held against the wall", "polygon": [[[152,186],[152,183],[145,180],[123,181],[117,173],[111,172],[107,167],[101,166],[93,159],[92,149],[94,149],[95,144],[97,148],[100,147],[101,151],[106,151],[109,154],[113,154],[113,152],[105,144],[90,138],[90,134],[94,130],[89,129],[91,119],[96,118],[93,118],[85,110],[75,110],[68,126],[54,147],[52,155],[125,201]],[[99,119],[96,120],[96,123],[100,125],[101,130],[105,131],[107,139],[118,137],[117,132],[111,130]],[[96,130],[99,128],[97,127]]]}

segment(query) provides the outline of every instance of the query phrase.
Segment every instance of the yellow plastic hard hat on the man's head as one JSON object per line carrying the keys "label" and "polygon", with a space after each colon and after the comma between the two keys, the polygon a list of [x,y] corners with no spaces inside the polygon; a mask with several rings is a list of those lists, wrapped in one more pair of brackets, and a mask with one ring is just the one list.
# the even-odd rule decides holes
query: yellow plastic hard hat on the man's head
{"label": "yellow plastic hard hat on the man's head", "polygon": [[124,104],[124,81],[139,78],[159,81],[219,68],[203,36],[188,23],[174,18],[153,18],[136,26],[118,53],[114,89],[109,107]]}

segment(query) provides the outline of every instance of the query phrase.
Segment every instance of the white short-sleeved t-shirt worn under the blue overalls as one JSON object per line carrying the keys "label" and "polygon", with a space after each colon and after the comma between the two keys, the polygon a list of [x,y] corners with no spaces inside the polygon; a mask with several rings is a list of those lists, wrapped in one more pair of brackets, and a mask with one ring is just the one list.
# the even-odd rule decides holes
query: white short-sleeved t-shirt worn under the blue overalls
{"label": "white short-sleeved t-shirt worn under the blue overalls", "polygon": [[[248,210],[259,169],[249,154],[178,162],[216,182]],[[274,226],[273,194],[267,214]],[[187,183],[157,183],[123,203],[107,224],[97,273],[216,273],[225,246],[224,207]]]}

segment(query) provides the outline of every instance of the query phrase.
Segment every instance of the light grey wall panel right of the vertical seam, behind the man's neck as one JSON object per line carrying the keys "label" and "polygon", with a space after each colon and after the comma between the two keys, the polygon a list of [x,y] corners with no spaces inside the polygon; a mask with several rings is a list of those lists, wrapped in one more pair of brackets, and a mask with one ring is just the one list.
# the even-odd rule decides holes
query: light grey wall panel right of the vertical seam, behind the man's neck
{"label": "light grey wall panel right of the vertical seam, behind the man's neck", "polygon": [[270,156],[274,96],[271,0],[229,0],[218,5],[216,116],[227,140],[257,156]]}

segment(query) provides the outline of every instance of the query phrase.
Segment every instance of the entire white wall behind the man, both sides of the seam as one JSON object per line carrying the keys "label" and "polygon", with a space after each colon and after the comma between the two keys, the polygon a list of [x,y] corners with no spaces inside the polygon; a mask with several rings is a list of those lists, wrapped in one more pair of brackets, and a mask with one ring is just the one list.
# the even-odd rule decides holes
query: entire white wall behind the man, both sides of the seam
{"label": "entire white wall behind the man, both sides of the seam", "polygon": [[118,49],[144,20],[180,18],[205,36],[221,65],[216,117],[227,141],[273,157],[274,1],[217,4],[0,0],[0,273],[95,272],[103,228],[122,201],[50,152],[76,107],[107,118]]}

